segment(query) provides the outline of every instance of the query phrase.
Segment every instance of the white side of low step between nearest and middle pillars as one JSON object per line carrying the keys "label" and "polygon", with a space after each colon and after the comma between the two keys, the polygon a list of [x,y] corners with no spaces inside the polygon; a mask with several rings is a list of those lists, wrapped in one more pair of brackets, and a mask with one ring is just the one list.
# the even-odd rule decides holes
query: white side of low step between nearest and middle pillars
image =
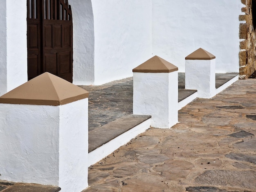
{"label": "white side of low step between nearest and middle pillars", "polygon": [[144,121],[143,123],[133,127],[129,131],[117,136],[108,143],[102,145],[101,147],[93,150],[89,153],[88,156],[88,166],[93,165],[108,156],[120,146],[128,143],[132,138],[135,138],[137,135],[143,133],[150,127],[150,118]]}

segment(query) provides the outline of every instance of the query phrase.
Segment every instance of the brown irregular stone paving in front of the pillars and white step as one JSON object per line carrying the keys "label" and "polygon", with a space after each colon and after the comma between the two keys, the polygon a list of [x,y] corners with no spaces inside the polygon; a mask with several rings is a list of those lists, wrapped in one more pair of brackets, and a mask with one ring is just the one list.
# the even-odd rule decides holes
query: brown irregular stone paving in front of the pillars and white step
{"label": "brown irregular stone paving in front of the pillars and white step", "polygon": [[83,192],[256,192],[256,80],[238,80],[89,167]]}

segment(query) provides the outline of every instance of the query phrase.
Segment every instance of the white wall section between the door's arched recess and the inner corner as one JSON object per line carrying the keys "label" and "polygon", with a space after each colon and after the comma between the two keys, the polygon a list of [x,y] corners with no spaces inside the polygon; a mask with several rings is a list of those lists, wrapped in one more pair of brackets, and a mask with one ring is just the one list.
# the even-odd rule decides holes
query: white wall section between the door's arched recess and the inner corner
{"label": "white wall section between the door's arched recess and the inner corner", "polygon": [[94,84],[132,76],[152,57],[151,0],[92,0]]}

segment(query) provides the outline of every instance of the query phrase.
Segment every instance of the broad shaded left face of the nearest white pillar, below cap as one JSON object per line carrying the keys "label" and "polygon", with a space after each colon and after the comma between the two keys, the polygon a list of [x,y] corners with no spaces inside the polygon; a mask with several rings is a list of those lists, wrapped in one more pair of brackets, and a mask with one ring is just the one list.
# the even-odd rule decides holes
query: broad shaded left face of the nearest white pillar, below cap
{"label": "broad shaded left face of the nearest white pillar, below cap", "polygon": [[58,186],[58,116],[58,106],[0,103],[1,180]]}

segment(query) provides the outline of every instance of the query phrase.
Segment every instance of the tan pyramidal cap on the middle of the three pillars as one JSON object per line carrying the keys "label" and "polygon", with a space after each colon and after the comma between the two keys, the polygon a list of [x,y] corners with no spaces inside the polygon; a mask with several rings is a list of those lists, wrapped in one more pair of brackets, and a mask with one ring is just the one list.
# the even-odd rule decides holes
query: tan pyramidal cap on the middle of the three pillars
{"label": "tan pyramidal cap on the middle of the three pillars", "polygon": [[141,73],[170,73],[177,71],[178,67],[169,63],[168,61],[154,56],[147,60],[145,63],[142,63],[138,67],[132,69],[132,72],[141,72]]}

